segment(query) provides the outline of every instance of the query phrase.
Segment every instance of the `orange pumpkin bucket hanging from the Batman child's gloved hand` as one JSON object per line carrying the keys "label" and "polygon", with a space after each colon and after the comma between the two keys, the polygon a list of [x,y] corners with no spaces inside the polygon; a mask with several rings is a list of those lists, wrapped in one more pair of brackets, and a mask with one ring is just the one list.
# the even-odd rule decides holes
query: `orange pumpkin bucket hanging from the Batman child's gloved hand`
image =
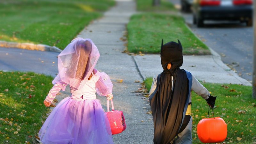
{"label": "orange pumpkin bucket hanging from the Batman child's gloved hand", "polygon": [[209,111],[208,118],[201,119],[197,124],[197,135],[203,143],[222,142],[226,139],[227,133],[228,129],[225,121],[220,117],[209,118]]}

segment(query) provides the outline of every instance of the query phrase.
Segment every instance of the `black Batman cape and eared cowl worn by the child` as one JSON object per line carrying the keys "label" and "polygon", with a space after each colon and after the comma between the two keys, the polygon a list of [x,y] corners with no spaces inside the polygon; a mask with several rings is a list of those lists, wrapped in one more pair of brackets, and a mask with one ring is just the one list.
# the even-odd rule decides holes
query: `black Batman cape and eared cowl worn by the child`
{"label": "black Batman cape and eared cowl worn by the child", "polygon": [[[179,41],[179,40],[178,40]],[[170,70],[167,64],[171,63]],[[150,100],[154,120],[154,144],[171,143],[179,133],[189,99],[186,71],[183,63],[182,46],[169,42],[161,46],[161,64],[164,71],[157,76],[155,95]],[[172,90],[173,76],[173,90]]]}

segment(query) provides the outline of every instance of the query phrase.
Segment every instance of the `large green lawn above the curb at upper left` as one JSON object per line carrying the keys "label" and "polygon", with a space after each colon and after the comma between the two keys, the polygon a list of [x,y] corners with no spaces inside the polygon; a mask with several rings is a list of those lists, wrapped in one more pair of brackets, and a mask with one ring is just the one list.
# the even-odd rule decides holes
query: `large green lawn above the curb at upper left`
{"label": "large green lawn above the curb at upper left", "polygon": [[2,0],[0,40],[64,49],[113,0]]}

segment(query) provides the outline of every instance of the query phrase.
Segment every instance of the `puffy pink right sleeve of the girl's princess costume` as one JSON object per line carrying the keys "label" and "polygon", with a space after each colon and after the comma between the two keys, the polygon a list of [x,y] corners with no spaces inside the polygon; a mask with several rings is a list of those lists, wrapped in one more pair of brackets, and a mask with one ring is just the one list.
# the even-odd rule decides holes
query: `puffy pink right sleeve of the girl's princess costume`
{"label": "puffy pink right sleeve of the girl's princess costume", "polygon": [[96,82],[96,92],[100,96],[106,96],[112,92],[112,89],[113,89],[113,84],[109,76],[106,73],[101,72],[100,78]]}

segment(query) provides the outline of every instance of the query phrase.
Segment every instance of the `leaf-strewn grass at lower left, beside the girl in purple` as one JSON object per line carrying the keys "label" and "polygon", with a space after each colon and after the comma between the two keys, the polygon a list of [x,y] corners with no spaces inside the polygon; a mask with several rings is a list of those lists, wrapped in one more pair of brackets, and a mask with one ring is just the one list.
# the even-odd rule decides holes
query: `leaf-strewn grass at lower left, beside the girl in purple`
{"label": "leaf-strewn grass at lower left, beside the girl in purple", "polygon": [[36,143],[49,111],[43,101],[52,79],[32,72],[0,71],[0,143]]}

